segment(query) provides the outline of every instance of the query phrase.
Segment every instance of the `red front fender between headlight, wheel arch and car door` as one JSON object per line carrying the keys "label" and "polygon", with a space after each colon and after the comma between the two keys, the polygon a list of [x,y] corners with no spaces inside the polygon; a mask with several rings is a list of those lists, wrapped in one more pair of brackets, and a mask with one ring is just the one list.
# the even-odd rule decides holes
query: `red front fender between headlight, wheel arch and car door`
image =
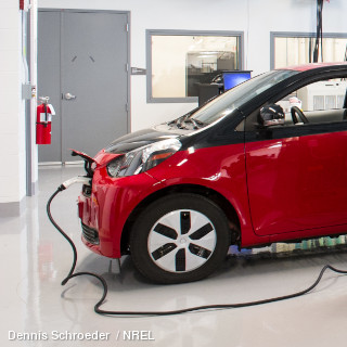
{"label": "red front fender between headlight, wheel arch and car door", "polygon": [[218,192],[236,210],[244,231],[243,245],[255,242],[248,207],[243,143],[181,151],[149,174],[156,179],[165,177],[162,181],[165,187],[193,184]]}

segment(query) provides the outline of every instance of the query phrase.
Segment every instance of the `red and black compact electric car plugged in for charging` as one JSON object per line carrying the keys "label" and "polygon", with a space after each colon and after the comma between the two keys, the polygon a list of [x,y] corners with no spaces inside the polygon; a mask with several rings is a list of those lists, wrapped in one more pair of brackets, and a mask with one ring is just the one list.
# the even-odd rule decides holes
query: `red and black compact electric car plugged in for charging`
{"label": "red and black compact electric car plugged in for charging", "polygon": [[181,283],[230,245],[347,233],[346,78],[344,63],[271,70],[85,156],[83,243]]}

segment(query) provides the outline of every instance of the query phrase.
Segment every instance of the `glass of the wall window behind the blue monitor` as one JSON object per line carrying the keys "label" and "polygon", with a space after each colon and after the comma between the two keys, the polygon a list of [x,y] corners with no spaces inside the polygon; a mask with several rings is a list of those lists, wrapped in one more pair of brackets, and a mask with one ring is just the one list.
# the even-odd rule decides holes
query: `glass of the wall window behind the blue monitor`
{"label": "glass of the wall window behind the blue monitor", "polygon": [[[222,70],[241,69],[239,35],[167,35],[150,33],[147,83],[152,101],[182,101],[198,95]],[[189,100],[189,99],[188,99]],[[194,98],[196,100],[196,98]]]}

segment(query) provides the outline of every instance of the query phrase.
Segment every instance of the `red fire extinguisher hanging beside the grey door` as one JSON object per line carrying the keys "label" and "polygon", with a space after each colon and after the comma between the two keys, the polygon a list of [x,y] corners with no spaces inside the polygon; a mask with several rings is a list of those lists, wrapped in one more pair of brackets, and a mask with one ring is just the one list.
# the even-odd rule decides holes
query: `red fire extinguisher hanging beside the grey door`
{"label": "red fire extinguisher hanging beside the grey door", "polygon": [[48,103],[48,101],[50,100],[49,97],[39,99],[42,103],[37,106],[36,143],[50,144],[52,116],[55,115],[55,111],[53,106]]}

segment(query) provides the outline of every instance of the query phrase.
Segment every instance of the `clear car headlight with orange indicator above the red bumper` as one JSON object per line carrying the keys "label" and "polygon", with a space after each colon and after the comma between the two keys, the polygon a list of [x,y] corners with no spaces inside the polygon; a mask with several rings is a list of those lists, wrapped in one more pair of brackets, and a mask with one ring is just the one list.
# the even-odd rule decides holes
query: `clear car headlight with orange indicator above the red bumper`
{"label": "clear car headlight with orange indicator above the red bumper", "polygon": [[145,145],[119,156],[108,163],[107,172],[111,177],[125,177],[144,172],[169,158],[181,147],[177,139],[163,140]]}

